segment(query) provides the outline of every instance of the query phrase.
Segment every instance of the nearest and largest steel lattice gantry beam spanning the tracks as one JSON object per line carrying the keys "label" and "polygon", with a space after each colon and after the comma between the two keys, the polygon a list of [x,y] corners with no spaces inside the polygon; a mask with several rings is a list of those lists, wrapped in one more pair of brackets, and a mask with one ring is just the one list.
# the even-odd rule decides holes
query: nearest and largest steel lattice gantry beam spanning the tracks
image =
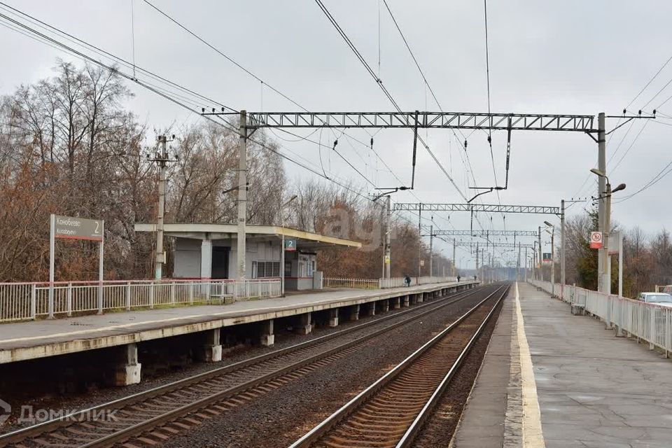
{"label": "nearest and largest steel lattice gantry beam spanning the tracks", "polygon": [[[203,115],[223,115],[205,112]],[[408,128],[597,132],[595,117],[472,112],[247,112],[248,128]]]}

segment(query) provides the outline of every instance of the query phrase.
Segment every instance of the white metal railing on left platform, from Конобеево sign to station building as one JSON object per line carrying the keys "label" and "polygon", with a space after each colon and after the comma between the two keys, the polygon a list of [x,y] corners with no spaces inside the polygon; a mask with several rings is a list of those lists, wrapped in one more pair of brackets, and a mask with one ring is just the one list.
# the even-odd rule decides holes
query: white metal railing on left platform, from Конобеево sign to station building
{"label": "white metal railing on left platform, from \u041a\u043e\u043d\u043e\u0431\u0435\u0435\u0432\u043e sign to station building", "polygon": [[0,322],[279,297],[280,287],[280,279],[0,283]]}

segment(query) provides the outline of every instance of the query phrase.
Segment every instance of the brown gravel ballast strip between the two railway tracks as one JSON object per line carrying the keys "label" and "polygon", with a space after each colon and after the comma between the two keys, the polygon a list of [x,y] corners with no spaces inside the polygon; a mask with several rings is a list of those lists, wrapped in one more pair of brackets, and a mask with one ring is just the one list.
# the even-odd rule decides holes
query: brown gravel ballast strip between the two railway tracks
{"label": "brown gravel ballast strip between the two railway tracks", "polygon": [[174,435],[164,446],[286,447],[475,303],[468,298],[392,330],[351,356]]}

